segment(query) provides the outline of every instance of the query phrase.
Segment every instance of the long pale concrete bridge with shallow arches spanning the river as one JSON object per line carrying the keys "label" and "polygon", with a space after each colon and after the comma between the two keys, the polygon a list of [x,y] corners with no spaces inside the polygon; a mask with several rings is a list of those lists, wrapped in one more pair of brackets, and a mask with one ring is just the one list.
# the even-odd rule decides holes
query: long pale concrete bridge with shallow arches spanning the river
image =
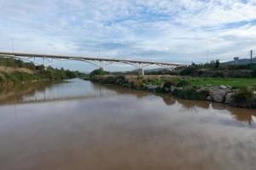
{"label": "long pale concrete bridge with shallow arches spanning the river", "polygon": [[[144,75],[144,69],[150,65],[160,66],[169,71],[174,71],[179,67],[185,67],[186,65],[170,63],[170,62],[156,62],[156,61],[143,61],[143,60],[131,60],[131,59],[108,59],[108,58],[94,58],[89,56],[69,56],[69,55],[55,55],[55,54],[26,54],[26,53],[9,53],[9,52],[0,52],[0,57],[9,57],[14,59],[24,59],[36,63],[36,59],[43,59],[43,65],[49,66],[53,65],[55,62],[67,61],[67,60],[77,60],[90,63],[95,65],[97,68],[104,68],[108,65],[115,63],[132,65],[140,71],[140,74]],[[45,64],[45,60],[48,61],[48,64]],[[54,62],[55,61],[55,62]],[[42,65],[42,64],[41,64]]]}

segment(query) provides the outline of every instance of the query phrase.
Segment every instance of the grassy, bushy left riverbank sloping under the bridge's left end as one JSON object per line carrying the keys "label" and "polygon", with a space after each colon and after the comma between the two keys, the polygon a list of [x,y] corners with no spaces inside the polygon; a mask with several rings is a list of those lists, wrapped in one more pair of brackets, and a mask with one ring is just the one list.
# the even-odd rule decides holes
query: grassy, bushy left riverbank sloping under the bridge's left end
{"label": "grassy, bushy left riverbank sloping under the bridge's left end", "polygon": [[84,77],[79,71],[65,71],[44,65],[34,65],[18,59],[0,58],[0,85],[16,82],[59,81],[63,79]]}

